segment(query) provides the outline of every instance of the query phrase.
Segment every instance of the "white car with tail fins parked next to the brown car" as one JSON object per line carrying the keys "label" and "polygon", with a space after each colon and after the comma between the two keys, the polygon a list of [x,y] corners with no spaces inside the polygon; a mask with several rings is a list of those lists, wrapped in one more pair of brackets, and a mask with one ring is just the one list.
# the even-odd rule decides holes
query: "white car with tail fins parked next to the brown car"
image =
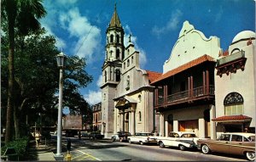
{"label": "white car with tail fins parked next to the brown car", "polygon": [[177,147],[180,150],[196,148],[197,140],[194,132],[171,131],[168,137],[158,137],[157,143],[160,148]]}

